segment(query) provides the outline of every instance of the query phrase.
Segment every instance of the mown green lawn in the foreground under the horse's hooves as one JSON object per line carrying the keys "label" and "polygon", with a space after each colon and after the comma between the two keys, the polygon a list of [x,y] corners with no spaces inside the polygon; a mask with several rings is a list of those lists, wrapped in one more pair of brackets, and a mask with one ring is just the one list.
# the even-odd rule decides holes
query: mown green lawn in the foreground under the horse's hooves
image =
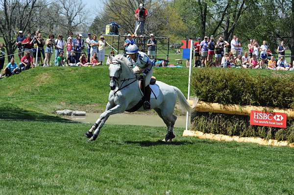
{"label": "mown green lawn in the foreground under the horse's hooves", "polygon": [[0,120],[0,194],[292,194],[294,149],[106,125]]}

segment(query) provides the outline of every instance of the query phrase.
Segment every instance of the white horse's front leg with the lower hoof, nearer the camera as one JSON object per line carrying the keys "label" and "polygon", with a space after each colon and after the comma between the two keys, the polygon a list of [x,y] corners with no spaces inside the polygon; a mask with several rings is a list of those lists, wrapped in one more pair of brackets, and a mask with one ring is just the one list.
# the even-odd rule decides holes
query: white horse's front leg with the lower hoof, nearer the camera
{"label": "white horse's front leg with the lower hoof, nearer the camera", "polygon": [[97,139],[101,128],[103,127],[104,123],[110,115],[123,112],[124,110],[125,108],[123,108],[121,105],[116,105],[114,108],[111,108],[103,112],[97,120],[97,122],[99,121],[98,128],[94,131],[93,136],[89,139],[89,141],[95,141]]}

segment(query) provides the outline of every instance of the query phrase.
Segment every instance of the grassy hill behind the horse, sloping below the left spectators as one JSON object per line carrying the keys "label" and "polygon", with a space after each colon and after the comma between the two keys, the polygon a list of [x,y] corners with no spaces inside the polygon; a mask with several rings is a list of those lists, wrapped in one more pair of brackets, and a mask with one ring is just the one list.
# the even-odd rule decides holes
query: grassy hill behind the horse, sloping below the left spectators
{"label": "grassy hill behind the horse, sloping below the left spectators", "polygon": [[[187,94],[187,68],[154,68],[157,80]],[[107,66],[37,67],[0,80],[0,109],[53,113],[58,109],[102,111],[109,89]],[[2,112],[3,113],[3,112]]]}

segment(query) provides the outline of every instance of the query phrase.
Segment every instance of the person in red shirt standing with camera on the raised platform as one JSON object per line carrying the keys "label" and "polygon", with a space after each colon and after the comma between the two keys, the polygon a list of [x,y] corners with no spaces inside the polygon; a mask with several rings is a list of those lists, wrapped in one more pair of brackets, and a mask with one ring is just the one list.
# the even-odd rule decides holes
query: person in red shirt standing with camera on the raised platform
{"label": "person in red shirt standing with camera on the raised platform", "polygon": [[144,25],[147,18],[148,12],[144,8],[143,3],[140,3],[139,7],[135,10],[136,27],[135,35],[144,35]]}

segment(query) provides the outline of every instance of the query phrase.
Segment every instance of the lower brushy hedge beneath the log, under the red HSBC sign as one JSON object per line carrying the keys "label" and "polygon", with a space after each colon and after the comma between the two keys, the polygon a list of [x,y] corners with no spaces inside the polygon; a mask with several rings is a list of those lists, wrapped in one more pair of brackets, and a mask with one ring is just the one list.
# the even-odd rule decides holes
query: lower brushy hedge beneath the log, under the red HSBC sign
{"label": "lower brushy hedge beneath the log, under the red HSBC sign", "polygon": [[294,142],[294,122],[287,122],[287,128],[251,126],[248,116],[197,112],[192,124],[192,130],[204,133],[237,135],[241,137],[261,137],[264,139],[287,140]]}

